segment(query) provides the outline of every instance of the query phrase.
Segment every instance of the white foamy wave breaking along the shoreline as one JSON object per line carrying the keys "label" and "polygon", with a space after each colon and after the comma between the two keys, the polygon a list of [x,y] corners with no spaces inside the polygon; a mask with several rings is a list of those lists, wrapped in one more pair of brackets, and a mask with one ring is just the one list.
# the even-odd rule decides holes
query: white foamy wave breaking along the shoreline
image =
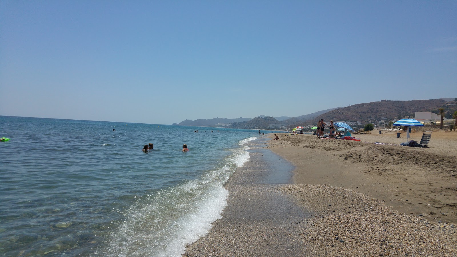
{"label": "white foamy wave breaking along the shoreline", "polygon": [[205,236],[227,205],[228,191],[223,187],[237,167],[249,161],[240,140],[217,169],[201,179],[160,191],[126,212],[126,220],[108,235],[110,239],[99,256],[181,256],[186,244]]}

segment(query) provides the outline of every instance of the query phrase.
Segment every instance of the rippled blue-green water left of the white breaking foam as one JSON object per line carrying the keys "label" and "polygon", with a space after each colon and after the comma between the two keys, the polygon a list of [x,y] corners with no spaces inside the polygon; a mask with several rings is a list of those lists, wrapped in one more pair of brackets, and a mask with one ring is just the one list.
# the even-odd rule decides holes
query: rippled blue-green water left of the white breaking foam
{"label": "rippled blue-green water left of the white breaking foam", "polygon": [[[90,255],[143,202],[160,200],[179,217],[180,207],[173,206],[179,201],[145,199],[200,179],[232,153],[229,147],[252,136],[228,129],[195,134],[179,126],[40,118],[1,117],[0,123],[14,138],[0,148],[0,156],[8,156],[0,172],[0,256]],[[141,149],[147,143],[154,150],[145,155]],[[191,152],[182,153],[184,143]],[[24,151],[24,145],[31,148]],[[197,191],[186,191],[188,201]],[[132,224],[138,226],[134,219]]]}

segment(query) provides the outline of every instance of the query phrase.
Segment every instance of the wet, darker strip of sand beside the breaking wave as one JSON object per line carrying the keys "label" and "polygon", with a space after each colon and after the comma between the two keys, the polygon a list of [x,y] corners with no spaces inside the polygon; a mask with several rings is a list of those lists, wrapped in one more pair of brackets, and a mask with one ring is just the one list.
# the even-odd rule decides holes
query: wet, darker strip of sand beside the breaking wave
{"label": "wet, darker strip of sand beside the breaking wave", "polygon": [[294,166],[268,149],[250,147],[250,161],[225,185],[230,194],[222,219],[183,256],[299,256],[306,251],[299,234],[312,214],[281,191],[292,182]]}

